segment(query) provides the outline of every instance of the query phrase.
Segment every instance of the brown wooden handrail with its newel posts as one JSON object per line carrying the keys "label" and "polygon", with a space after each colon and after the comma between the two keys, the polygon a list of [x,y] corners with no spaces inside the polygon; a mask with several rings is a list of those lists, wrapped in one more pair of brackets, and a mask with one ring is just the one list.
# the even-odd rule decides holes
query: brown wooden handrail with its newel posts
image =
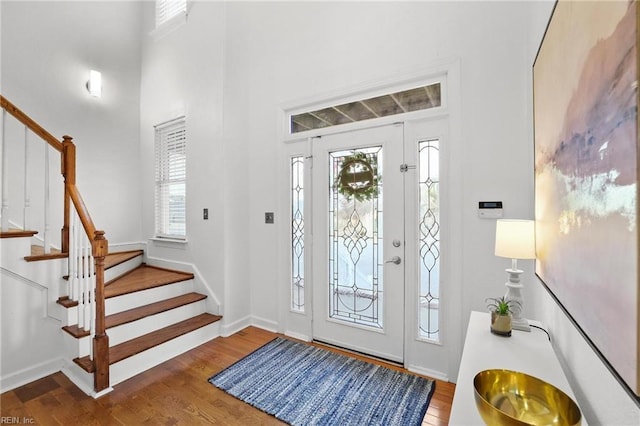
{"label": "brown wooden handrail with its newel posts", "polygon": [[60,152],[60,168],[64,176],[64,225],[62,228],[62,252],[69,253],[69,225],[71,204],[74,205],[82,227],[91,242],[91,251],[95,261],[95,336],[94,348],[94,388],[100,392],[109,387],[109,337],[105,329],[104,305],[104,259],[109,252],[109,242],[104,237],[104,231],[96,230],[93,220],[84,204],[80,191],[76,186],[76,147],[71,136],[63,136],[58,141],[51,133],[32,120],[18,107],[4,96],[0,95],[0,106],[9,114],[24,124],[33,133]]}

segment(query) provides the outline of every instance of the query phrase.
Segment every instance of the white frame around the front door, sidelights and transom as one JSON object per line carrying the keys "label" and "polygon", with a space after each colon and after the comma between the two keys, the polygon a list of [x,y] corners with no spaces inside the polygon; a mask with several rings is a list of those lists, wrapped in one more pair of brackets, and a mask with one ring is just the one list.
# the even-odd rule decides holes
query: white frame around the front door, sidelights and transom
{"label": "white frame around the front door, sidelights and transom", "polygon": [[[371,93],[392,93],[393,91],[403,90],[407,86],[413,84],[428,84],[440,80],[442,86],[442,106],[422,111],[415,111],[405,114],[398,114],[378,119],[360,121],[356,123],[344,124],[329,128],[317,129],[308,132],[290,134],[287,128],[287,117],[294,111],[304,109],[312,109],[322,105],[336,105],[348,102],[356,98],[362,98]],[[307,306],[305,312],[292,311],[290,309],[290,259],[289,259],[289,220],[285,217],[289,216],[289,161],[292,155],[311,156],[311,139],[321,137],[327,134],[336,134],[359,130],[363,128],[385,126],[392,123],[404,122],[405,126],[410,125],[411,121],[417,121],[429,118],[446,118],[448,121],[448,137],[449,149],[446,161],[448,161],[448,180],[446,205],[442,206],[442,216],[446,215],[447,234],[449,235],[448,247],[446,254],[443,250],[443,263],[441,270],[446,271],[450,288],[447,289],[447,298],[452,302],[448,304],[446,313],[441,317],[443,321],[443,344],[446,344],[449,351],[450,363],[446,371],[432,370],[421,360],[419,354],[413,354],[407,351],[407,343],[405,341],[405,366],[408,370],[435,377],[441,380],[455,380],[458,374],[462,344],[464,339],[464,329],[462,324],[462,212],[459,208],[462,206],[462,130],[461,130],[461,93],[460,93],[460,61],[459,59],[448,59],[435,63],[428,68],[422,68],[404,74],[400,77],[387,78],[374,82],[363,83],[356,87],[351,87],[334,92],[324,93],[313,97],[298,99],[295,101],[284,102],[278,109],[278,138],[282,143],[279,144],[279,161],[277,170],[278,188],[282,188],[277,192],[278,210],[282,212],[280,216],[283,220],[277,222],[278,241],[277,251],[278,267],[278,331],[287,336],[297,338],[304,341],[312,339],[312,286],[313,271],[312,265],[305,264],[305,304]],[[313,160],[311,160],[313,161]],[[309,170],[310,168],[306,168]],[[308,183],[307,183],[308,182]],[[305,187],[311,185],[311,173],[305,171]],[[312,207],[305,206],[305,229],[310,230],[313,220],[310,217]],[[307,221],[308,219],[308,221]],[[305,235],[305,257],[312,259],[312,236]],[[310,242],[307,246],[307,242]],[[456,302],[457,301],[457,302]],[[405,321],[407,315],[405,313]],[[412,324],[405,324],[406,333],[413,330]],[[409,337],[405,335],[405,340]]]}

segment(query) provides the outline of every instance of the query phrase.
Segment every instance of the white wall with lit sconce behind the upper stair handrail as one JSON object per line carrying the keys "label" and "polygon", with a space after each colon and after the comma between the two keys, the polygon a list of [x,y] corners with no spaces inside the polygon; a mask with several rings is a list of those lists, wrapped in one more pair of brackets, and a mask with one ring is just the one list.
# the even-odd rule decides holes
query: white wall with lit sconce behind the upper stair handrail
{"label": "white wall with lit sconce behind the upper stair handrail", "polygon": [[[110,241],[139,241],[140,216],[130,212],[140,209],[140,4],[1,7],[2,94],[54,136],[73,136],[77,184],[94,224]],[[102,72],[100,99],[85,88],[90,69]]]}

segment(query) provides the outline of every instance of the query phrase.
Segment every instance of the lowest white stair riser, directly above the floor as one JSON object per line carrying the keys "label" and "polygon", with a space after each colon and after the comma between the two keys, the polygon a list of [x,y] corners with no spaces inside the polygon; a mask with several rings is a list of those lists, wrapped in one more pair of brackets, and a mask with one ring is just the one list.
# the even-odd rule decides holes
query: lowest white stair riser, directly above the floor
{"label": "lowest white stair riser, directly above the floor", "polygon": [[219,322],[215,322],[162,345],[123,359],[110,367],[111,386],[115,386],[136,374],[149,370],[151,367],[155,367],[218,336],[220,336],[220,326]]}

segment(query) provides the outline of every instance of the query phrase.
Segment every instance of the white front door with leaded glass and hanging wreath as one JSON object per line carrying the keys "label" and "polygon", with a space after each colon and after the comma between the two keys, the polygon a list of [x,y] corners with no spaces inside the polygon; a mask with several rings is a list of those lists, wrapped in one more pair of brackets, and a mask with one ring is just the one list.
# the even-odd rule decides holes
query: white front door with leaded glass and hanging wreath
{"label": "white front door with leaded glass and hanging wreath", "polygon": [[313,338],[404,361],[403,125],[313,141]]}

